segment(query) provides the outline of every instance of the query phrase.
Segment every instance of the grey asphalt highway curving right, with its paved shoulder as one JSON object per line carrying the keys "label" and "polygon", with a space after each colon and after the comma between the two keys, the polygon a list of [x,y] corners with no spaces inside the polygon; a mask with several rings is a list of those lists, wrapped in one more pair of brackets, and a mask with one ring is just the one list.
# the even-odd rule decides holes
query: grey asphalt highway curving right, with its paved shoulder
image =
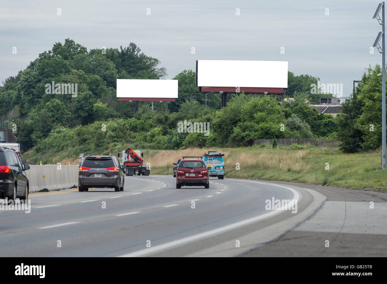
{"label": "grey asphalt highway curving right, with its paved shoulder", "polygon": [[[308,236],[311,232],[320,237],[324,234],[322,232],[335,234],[330,238],[332,248],[335,236],[338,239],[338,234],[344,236],[347,233],[346,225],[340,223],[342,214],[346,214],[343,215],[344,223],[349,220],[347,224],[350,225],[351,218],[355,218],[371,226],[367,233],[356,231],[356,224],[352,224],[355,229],[348,229],[349,235],[360,235],[360,241],[361,237],[369,239],[372,235],[382,241],[378,250],[368,252],[366,247],[359,251],[356,244],[353,247],[347,245],[349,255],[386,255],[387,229],[378,224],[385,222],[387,217],[385,194],[348,189],[335,193],[336,188],[322,193],[320,190],[319,193],[311,188],[318,189],[319,186],[211,179],[209,189],[176,189],[175,178],[150,175],[125,177],[123,192],[114,192],[114,189],[78,192],[74,188],[35,192],[29,197],[31,213],[0,211],[0,239],[3,243],[0,256],[325,256],[324,237],[308,239]],[[327,187],[320,188],[327,190]],[[349,201],[346,194],[351,196]],[[335,198],[341,199],[334,201]],[[266,201],[272,199],[297,200],[296,213],[292,210],[267,210]],[[375,208],[366,212],[371,199],[376,202]],[[348,203],[345,212],[341,210],[341,204],[329,203],[343,200],[353,202]],[[356,207],[353,212],[349,211],[355,204],[360,209]],[[367,214],[367,217],[359,219],[356,214]],[[369,223],[371,218],[372,224]],[[333,220],[338,220],[340,231],[329,229]],[[321,225],[325,231],[320,230]],[[373,225],[376,226],[372,228]],[[288,234],[296,234],[298,239],[284,250],[282,241]],[[303,245],[310,248],[305,248],[305,254],[300,254]],[[321,250],[313,252],[316,246]],[[330,250],[329,256],[335,256],[334,251]]]}

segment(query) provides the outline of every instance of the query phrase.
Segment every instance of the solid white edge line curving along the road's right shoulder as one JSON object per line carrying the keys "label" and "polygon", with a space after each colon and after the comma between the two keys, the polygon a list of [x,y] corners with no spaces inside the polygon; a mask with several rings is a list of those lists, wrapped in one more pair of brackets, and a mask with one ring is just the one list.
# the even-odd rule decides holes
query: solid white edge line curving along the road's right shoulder
{"label": "solid white edge line curving along the road's right shoulder", "polygon": [[[253,181],[247,181],[247,180],[243,180],[243,181],[253,182]],[[268,184],[268,183],[264,183],[264,182],[255,182],[255,183],[257,183],[257,184]],[[294,194],[293,199],[296,199],[296,200],[300,199],[300,195],[298,194],[298,192],[296,190],[294,190],[294,189],[291,189],[290,187],[286,187],[286,186],[283,186],[283,185],[277,185],[277,184],[271,184],[271,185],[276,185],[278,187],[283,187],[283,188],[289,189]],[[285,211],[285,208],[288,208],[288,204],[284,204],[284,206],[281,207],[280,210],[273,210],[273,211],[270,211],[268,213],[265,213],[265,214],[262,214],[262,215],[259,215],[259,216],[255,216],[255,217],[252,217],[252,218],[248,218],[248,219],[245,219],[245,220],[233,223],[233,224],[229,224],[229,225],[226,225],[226,226],[214,229],[214,230],[210,230],[210,231],[203,232],[203,233],[200,233],[200,234],[197,234],[197,235],[193,235],[193,236],[189,236],[189,237],[186,237],[186,238],[182,238],[180,240],[170,241],[170,242],[164,243],[162,245],[156,245],[155,247],[150,247],[150,248],[146,248],[146,249],[143,249],[143,250],[138,250],[137,252],[126,253],[124,255],[120,255],[119,257],[139,257],[139,256],[146,255],[146,254],[149,254],[149,253],[158,252],[159,250],[165,250],[167,248],[175,247],[177,245],[182,245],[183,243],[188,243],[188,242],[196,241],[196,240],[199,240],[201,238],[205,238],[205,237],[208,237],[208,236],[211,236],[211,235],[216,235],[216,234],[219,234],[219,233],[223,233],[224,231],[233,230],[233,229],[235,229],[237,227],[240,227],[240,226],[243,226],[243,225],[246,225],[246,224],[249,224],[249,223],[253,223],[253,222],[259,221],[261,219],[268,218],[268,217],[270,217],[272,215],[276,215],[276,214],[282,213],[282,212]]]}

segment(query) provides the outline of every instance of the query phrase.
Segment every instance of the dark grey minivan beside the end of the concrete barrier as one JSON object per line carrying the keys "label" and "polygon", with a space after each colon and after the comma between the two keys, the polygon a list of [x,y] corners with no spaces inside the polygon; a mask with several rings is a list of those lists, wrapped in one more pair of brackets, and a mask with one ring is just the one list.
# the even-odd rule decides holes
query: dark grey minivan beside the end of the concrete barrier
{"label": "dark grey minivan beside the end of the concrete barrier", "polygon": [[124,174],[115,156],[87,156],[79,167],[79,191],[90,187],[110,187],[123,191]]}

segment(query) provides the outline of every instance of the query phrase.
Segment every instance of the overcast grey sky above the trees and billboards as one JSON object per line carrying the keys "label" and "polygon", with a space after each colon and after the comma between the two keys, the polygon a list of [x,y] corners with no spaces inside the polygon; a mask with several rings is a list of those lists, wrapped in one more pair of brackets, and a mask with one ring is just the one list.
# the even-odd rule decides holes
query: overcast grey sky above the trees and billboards
{"label": "overcast grey sky above the trees and billboards", "polygon": [[[0,82],[69,37],[88,50],[119,48],[133,41],[146,55],[161,61],[167,79],[185,69],[195,70],[196,60],[288,61],[289,71],[295,75],[320,77],[321,83],[342,83],[343,97],[347,97],[364,68],[382,61],[377,49],[370,54],[370,46],[382,30],[372,19],[378,3],[2,0]],[[58,8],[62,15],[57,15]],[[148,8],[151,15],[147,15]],[[325,15],[326,9],[329,15]],[[13,47],[17,54],[12,54]]]}

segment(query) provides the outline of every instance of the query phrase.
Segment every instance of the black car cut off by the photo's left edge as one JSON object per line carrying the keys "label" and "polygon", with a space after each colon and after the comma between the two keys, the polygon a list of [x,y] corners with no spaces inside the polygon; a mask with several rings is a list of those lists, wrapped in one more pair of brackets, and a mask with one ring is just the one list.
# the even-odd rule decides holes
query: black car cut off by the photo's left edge
{"label": "black car cut off by the photo's left edge", "polygon": [[16,197],[27,201],[28,177],[25,170],[29,165],[22,165],[15,151],[0,146],[0,196],[15,201]]}

